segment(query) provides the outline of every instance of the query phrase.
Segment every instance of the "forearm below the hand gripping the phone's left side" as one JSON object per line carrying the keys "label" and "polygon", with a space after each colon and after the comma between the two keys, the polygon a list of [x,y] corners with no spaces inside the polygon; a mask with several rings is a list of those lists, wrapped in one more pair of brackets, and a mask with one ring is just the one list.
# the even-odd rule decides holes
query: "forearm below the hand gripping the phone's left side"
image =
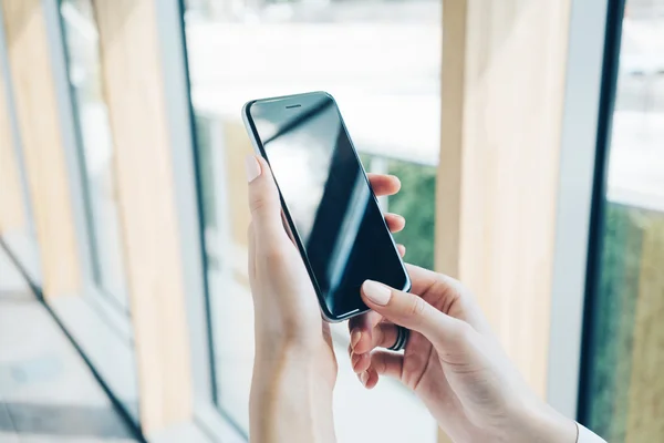
{"label": "forearm below the hand gripping the phone's left side", "polygon": [[257,349],[250,399],[252,443],[333,443],[332,387],[309,354]]}

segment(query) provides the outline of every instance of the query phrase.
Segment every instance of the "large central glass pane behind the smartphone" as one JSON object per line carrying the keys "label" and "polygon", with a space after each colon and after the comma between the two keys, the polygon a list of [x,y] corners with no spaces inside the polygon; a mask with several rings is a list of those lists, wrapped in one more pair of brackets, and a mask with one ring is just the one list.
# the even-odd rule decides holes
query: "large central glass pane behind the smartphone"
{"label": "large central glass pane behind the smartphone", "polygon": [[[382,204],[408,220],[396,236],[408,249],[406,259],[430,267],[442,4],[189,0],[186,7],[219,408],[247,430],[253,326],[249,212],[246,193],[238,189],[246,187],[243,157],[252,148],[240,109],[252,99],[330,92],[364,166],[401,176],[402,193]],[[345,324],[334,326],[333,334],[340,441],[434,442],[436,426],[424,406],[393,381],[366,392],[347,361]],[[362,436],[359,430],[372,433]]]}

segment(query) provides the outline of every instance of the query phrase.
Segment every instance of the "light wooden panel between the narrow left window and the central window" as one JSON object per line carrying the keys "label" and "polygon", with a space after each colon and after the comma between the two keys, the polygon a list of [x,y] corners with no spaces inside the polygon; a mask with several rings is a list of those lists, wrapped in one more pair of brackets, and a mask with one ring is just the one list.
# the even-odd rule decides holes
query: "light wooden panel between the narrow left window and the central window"
{"label": "light wooden panel between the narrow left window and the central window", "polygon": [[154,0],[96,0],[115,142],[146,435],[191,418],[193,392],[174,167]]}

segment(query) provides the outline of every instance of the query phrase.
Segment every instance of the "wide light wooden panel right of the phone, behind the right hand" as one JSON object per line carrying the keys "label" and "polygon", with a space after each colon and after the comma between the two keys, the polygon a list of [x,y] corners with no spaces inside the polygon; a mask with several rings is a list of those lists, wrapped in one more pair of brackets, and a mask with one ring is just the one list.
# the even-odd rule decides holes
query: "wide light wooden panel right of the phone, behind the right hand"
{"label": "wide light wooden panel right of the phone, behind the right hand", "polygon": [[570,0],[444,0],[436,266],[546,393]]}

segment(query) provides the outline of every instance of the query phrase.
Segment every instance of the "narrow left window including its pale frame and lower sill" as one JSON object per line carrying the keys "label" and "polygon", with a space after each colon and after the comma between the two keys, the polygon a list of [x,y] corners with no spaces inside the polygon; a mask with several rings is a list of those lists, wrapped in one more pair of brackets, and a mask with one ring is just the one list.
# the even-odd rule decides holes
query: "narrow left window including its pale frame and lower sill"
{"label": "narrow left window including its pale frame and lower sill", "polygon": [[[65,58],[69,76],[68,84],[58,86],[65,89],[69,94],[63,96],[71,100],[60,111],[66,113],[63,131],[69,127],[72,133],[65,150],[72,158],[69,178],[72,189],[77,190],[72,192],[72,205],[76,207],[73,213],[83,285],[82,297],[59,297],[50,303],[100,380],[137,424],[138,373],[125,276],[125,241],[95,11],[92,0],[62,0],[59,7],[48,19],[60,20],[61,27],[56,28],[62,34],[58,38],[63,48],[53,44],[53,50]],[[56,12],[60,17],[51,17]],[[60,81],[66,80],[63,75]],[[70,109],[73,115],[69,114]]]}

